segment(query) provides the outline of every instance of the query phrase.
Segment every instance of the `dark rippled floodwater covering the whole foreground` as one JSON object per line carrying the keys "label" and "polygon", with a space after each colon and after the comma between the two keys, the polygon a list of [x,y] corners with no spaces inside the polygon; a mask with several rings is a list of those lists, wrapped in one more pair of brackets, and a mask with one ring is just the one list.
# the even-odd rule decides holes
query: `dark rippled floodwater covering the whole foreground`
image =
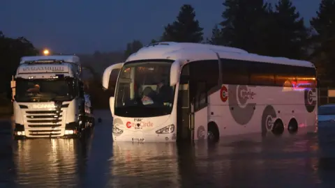
{"label": "dark rippled floodwater covering the whole foreground", "polygon": [[335,129],[216,145],[113,143],[110,114],[97,116],[84,141],[13,141],[0,120],[0,187],[335,187]]}

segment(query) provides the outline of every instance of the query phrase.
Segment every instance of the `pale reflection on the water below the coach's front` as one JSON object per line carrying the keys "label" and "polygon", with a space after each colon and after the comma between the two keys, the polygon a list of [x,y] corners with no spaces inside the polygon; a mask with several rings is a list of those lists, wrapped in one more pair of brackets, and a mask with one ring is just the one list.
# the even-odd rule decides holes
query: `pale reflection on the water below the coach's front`
{"label": "pale reflection on the water below the coach's front", "polygon": [[114,143],[112,187],[178,187],[175,143]]}

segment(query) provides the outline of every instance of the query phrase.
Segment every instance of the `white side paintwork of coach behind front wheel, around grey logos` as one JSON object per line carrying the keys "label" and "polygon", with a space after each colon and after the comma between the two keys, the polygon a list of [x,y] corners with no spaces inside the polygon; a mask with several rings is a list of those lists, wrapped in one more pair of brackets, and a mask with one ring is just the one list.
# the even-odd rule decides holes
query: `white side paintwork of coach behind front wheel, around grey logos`
{"label": "white side paintwork of coach behind front wheel, around grey logos", "polygon": [[[228,85],[225,85],[228,88]],[[237,88],[238,89],[238,88]],[[315,130],[315,116],[317,116],[317,108],[314,113],[307,113],[304,104],[304,91],[290,91],[290,93],[283,93],[280,87],[265,87],[253,86],[248,87],[248,90],[254,92],[253,99],[248,99],[247,104],[255,103],[255,111],[253,118],[246,125],[239,125],[234,121],[230,113],[230,106],[228,100],[222,102],[220,98],[220,91],[209,95],[209,105],[213,115],[209,113],[209,122],[214,121],[218,125],[220,136],[233,136],[237,134],[250,134],[261,132],[262,113],[267,106],[271,104],[275,111],[277,118],[281,118],[287,132],[287,126],[291,118],[295,118],[301,128],[307,128],[307,131],[313,132]],[[229,89],[228,89],[229,92]],[[317,93],[313,96],[317,100]],[[239,106],[243,107],[239,102]],[[294,113],[292,113],[294,111]],[[276,119],[272,120],[272,123]],[[317,123],[317,122],[316,122]]]}

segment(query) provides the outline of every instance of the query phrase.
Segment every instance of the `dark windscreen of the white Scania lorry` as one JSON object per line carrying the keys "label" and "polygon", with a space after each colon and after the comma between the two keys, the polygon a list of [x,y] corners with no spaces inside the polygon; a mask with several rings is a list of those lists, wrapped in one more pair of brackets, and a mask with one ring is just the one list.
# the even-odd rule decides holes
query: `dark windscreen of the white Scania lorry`
{"label": "dark windscreen of the white Scania lorry", "polygon": [[17,102],[66,101],[75,97],[73,79],[17,79]]}

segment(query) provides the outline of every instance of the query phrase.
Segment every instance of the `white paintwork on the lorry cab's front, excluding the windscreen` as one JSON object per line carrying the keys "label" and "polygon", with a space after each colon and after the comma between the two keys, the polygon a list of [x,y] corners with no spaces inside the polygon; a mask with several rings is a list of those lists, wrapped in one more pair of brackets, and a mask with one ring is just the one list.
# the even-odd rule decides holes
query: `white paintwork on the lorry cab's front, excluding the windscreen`
{"label": "white paintwork on the lorry cab's front, excluding the windscreen", "polygon": [[[47,63],[47,60],[64,61],[64,63]],[[34,63],[27,63],[27,61],[36,61]],[[40,61],[40,62],[38,62]],[[77,77],[80,79],[81,64],[80,58],[77,56],[24,56],[21,58],[20,65],[17,68],[15,78],[22,79],[54,79],[57,75],[64,75],[64,77]],[[13,89],[13,95],[15,95]],[[27,116],[46,116],[55,114],[52,111],[56,110],[54,102],[13,102],[15,123],[24,125],[24,134],[29,137],[45,137],[38,135],[31,135],[31,131],[47,130],[45,133],[57,132],[59,134],[54,136],[64,136],[66,123],[77,122],[78,120],[78,107],[80,105],[78,97],[72,101],[63,102],[68,104],[68,107],[63,107],[62,112],[59,114],[61,120],[57,124],[60,127],[52,127],[52,123],[29,123]],[[27,108],[20,108],[19,105],[26,106]],[[89,97],[85,95],[85,110],[88,112],[91,106]],[[29,111],[50,111],[50,113],[34,113]],[[91,113],[88,113],[91,116]],[[56,118],[56,117],[54,117]],[[53,118],[34,118],[34,120],[52,120]],[[31,119],[30,119],[31,120]],[[50,127],[30,127],[29,125],[50,125]],[[49,136],[46,136],[49,137]]]}

